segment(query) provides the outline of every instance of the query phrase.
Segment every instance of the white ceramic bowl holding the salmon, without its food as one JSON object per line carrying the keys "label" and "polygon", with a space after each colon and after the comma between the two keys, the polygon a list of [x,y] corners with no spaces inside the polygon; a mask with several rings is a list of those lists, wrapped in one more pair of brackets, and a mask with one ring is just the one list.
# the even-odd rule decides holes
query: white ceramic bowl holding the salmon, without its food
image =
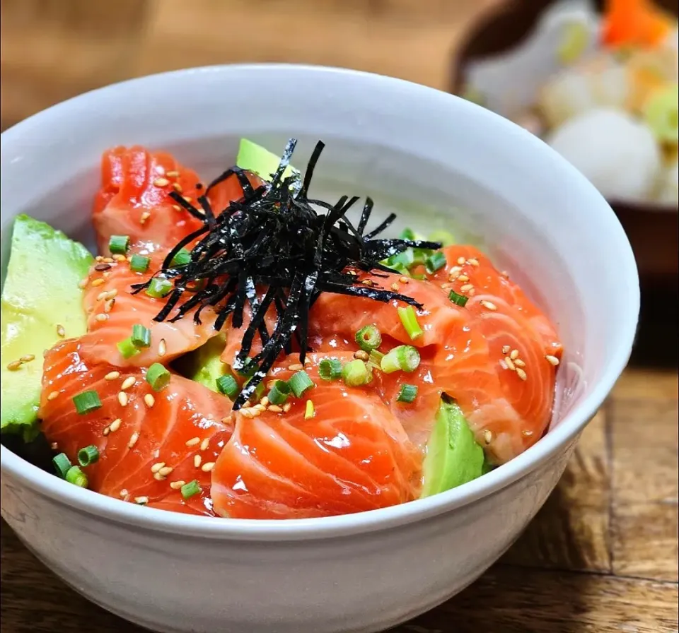
{"label": "white ceramic bowl holding the salmon, without its food", "polygon": [[455,215],[458,230],[482,234],[497,264],[559,325],[567,352],[552,429],[511,463],[455,490],[296,521],[138,507],[69,485],[3,446],[2,516],[76,591],[150,629],[377,631],[470,584],[550,494],[629,357],[639,308],[634,259],[586,179],[497,115],[396,79],[267,65],[112,85],[6,131],[3,269],[17,213],[88,239],[105,148],[168,148],[209,176],[231,165],[240,136],[274,149],[298,136],[301,167],[321,138],[317,191],[369,191],[378,209],[396,201],[416,228],[447,225]]}

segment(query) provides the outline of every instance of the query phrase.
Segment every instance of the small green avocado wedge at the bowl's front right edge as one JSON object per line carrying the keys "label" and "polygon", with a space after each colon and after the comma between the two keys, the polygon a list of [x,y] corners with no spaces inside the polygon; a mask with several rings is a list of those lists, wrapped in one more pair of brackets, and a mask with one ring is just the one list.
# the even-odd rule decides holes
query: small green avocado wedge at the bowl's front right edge
{"label": "small green avocado wedge at the bowl's front right edge", "polygon": [[442,398],[434,430],[426,444],[422,497],[431,497],[480,477],[483,466],[483,449],[476,443],[462,410],[456,403]]}

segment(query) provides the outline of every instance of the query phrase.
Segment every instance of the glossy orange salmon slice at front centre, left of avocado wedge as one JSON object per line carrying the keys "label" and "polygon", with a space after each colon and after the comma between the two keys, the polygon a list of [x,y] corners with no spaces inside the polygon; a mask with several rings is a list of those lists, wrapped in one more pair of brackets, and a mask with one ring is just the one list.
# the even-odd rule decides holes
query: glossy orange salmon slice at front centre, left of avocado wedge
{"label": "glossy orange salmon slice at front centre, left of avocado wedge", "polygon": [[[318,377],[287,413],[236,413],[236,430],[212,472],[220,516],[301,519],[351,514],[419,495],[422,454],[370,386]],[[350,357],[350,355],[349,355]],[[286,362],[293,362],[287,360]],[[294,367],[294,365],[293,365]],[[286,379],[291,370],[274,370]],[[306,418],[306,401],[313,417]]]}

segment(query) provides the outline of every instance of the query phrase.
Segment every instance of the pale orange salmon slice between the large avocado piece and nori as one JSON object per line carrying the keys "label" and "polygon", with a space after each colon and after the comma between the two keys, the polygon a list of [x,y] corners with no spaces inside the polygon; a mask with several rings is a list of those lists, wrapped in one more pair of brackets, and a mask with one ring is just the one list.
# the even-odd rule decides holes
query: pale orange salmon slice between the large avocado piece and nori
{"label": "pale orange salmon slice between the large avocado piece and nori", "polygon": [[[163,259],[165,254],[164,250],[156,252],[156,261]],[[83,294],[88,333],[81,338],[81,354],[89,362],[105,362],[117,367],[149,367],[156,361],[165,364],[216,336],[216,314],[212,307],[200,312],[199,324],[194,319],[196,309],[174,322],[171,319],[154,321],[167,298],[150,297],[144,290],[132,294],[132,285],[149,280],[153,268],[149,267],[146,273],[137,273],[132,271],[127,259],[108,259],[108,262],[92,266]],[[185,293],[175,310],[190,297],[190,293]],[[134,325],[145,326],[151,331],[151,343],[149,347],[139,348],[139,353],[124,358],[117,343],[132,335]]]}

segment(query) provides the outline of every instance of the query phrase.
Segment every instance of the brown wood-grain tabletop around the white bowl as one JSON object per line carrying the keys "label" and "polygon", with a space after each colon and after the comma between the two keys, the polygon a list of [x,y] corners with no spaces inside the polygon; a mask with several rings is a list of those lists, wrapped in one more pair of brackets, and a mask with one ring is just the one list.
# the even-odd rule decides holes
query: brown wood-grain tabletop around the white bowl
{"label": "brown wood-grain tabletop around the white bowl", "polygon": [[[231,61],[348,66],[445,88],[460,34],[496,1],[3,0],[1,124],[122,78]],[[395,632],[679,630],[671,302],[668,318],[665,295],[644,297],[644,367],[627,369],[516,545],[459,596]],[[0,578],[2,633],[91,630],[87,622],[98,633],[141,632],[64,586],[4,522]]]}

